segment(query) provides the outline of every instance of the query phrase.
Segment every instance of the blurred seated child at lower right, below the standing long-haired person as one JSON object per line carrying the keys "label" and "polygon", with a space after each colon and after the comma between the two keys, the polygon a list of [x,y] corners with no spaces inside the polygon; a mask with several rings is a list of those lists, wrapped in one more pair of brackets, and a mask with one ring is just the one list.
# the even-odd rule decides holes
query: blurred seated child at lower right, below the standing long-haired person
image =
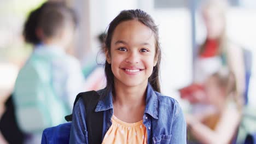
{"label": "blurred seated child at lower right, below the standing long-haired person", "polygon": [[[211,109],[187,115],[192,143],[230,143],[241,121],[242,98],[237,94],[235,76],[222,68],[203,85],[205,104]],[[208,107],[209,108],[209,107]],[[190,142],[191,140],[190,137]]]}

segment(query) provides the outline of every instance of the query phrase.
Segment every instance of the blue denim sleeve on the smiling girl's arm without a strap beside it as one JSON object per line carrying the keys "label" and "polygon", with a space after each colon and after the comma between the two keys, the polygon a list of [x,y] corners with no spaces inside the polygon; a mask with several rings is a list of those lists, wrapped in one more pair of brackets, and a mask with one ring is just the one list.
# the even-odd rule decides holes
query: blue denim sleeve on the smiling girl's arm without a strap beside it
{"label": "blue denim sleeve on the smiling girl's arm without a strap beside it", "polygon": [[176,112],[172,126],[172,138],[170,143],[187,143],[187,124],[181,106],[176,105]]}

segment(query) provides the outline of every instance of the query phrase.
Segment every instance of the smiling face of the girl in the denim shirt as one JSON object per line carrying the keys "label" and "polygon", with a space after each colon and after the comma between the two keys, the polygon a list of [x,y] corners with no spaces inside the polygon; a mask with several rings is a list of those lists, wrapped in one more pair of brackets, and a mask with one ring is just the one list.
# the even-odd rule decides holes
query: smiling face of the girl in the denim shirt
{"label": "smiling face of the girl in the denim shirt", "polygon": [[137,20],[119,23],[115,27],[110,56],[115,86],[145,86],[156,65],[155,38],[153,31]]}

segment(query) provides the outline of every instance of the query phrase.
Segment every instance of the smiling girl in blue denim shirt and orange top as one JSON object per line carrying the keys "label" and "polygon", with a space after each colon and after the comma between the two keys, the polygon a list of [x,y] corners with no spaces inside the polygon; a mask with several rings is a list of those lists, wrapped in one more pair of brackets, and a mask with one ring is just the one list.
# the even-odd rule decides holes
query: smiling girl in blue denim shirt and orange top
{"label": "smiling girl in blue denim shirt and orange top", "polygon": [[[158,27],[142,10],[124,10],[110,22],[105,41],[106,88],[95,112],[103,111],[102,143],[186,143],[181,107],[160,94]],[[80,98],[73,109],[69,143],[88,143]]]}

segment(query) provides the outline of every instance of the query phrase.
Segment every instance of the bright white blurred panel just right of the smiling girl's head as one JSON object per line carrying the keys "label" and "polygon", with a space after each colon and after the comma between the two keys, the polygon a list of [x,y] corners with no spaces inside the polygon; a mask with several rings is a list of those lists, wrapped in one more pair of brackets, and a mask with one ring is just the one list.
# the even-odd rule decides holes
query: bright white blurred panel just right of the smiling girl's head
{"label": "bright white blurred panel just right of the smiling girl's head", "polygon": [[153,13],[159,25],[162,47],[161,90],[180,103],[178,88],[192,80],[191,21],[188,9],[158,9]]}

